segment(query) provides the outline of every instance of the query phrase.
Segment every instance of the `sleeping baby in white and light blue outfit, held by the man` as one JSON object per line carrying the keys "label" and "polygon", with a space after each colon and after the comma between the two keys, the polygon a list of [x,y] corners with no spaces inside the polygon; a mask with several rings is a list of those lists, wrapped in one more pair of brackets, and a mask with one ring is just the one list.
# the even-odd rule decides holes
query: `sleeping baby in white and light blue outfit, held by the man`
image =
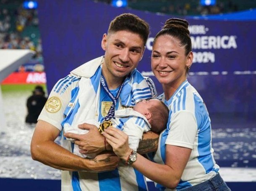
{"label": "sleeping baby in white and light blue outfit, held by the man", "polygon": [[[169,109],[162,101],[157,99],[143,100],[138,102],[133,108],[125,108],[115,111],[115,116],[110,119],[112,126],[121,129],[128,135],[129,146],[133,150],[137,150],[138,144],[144,132],[149,130],[153,132],[161,132],[166,128],[169,115]],[[99,122],[88,120],[86,123],[94,124],[99,127]],[[64,124],[64,132],[85,134],[88,130],[72,127]],[[68,139],[68,138],[67,138]],[[68,139],[74,141],[73,139]],[[81,154],[77,145],[74,145],[73,153],[80,157],[94,158],[96,155]]]}

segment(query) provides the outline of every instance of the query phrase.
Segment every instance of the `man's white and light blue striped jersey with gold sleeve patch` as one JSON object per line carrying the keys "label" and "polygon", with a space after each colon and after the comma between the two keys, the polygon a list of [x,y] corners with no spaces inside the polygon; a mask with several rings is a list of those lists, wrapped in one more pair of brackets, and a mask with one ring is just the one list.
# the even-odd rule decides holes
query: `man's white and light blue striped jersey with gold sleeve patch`
{"label": "man's white and light blue striped jersey with gold sleeve patch", "polygon": [[[39,119],[57,127],[63,124],[81,124],[86,119],[104,118],[104,111],[111,99],[100,88],[102,60],[99,57],[74,70],[72,75],[59,80],[49,95],[47,104],[53,109],[44,108]],[[86,73],[86,75],[85,75]],[[155,96],[152,80],[144,77],[135,69],[125,79],[123,89],[115,109],[134,106],[136,102]],[[101,90],[102,89],[102,90]],[[112,90],[115,94],[117,90]],[[109,106],[109,105],[108,105]],[[62,146],[73,151],[73,144],[62,138]],[[69,191],[144,191],[147,190],[146,179],[131,166],[120,164],[116,170],[104,173],[62,171],[62,190]]]}

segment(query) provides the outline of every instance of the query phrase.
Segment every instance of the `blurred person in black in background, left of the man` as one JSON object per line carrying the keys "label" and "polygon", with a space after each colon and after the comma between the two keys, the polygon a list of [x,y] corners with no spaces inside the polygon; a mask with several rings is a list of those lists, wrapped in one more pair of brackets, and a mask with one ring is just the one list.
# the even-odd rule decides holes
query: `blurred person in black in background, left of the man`
{"label": "blurred person in black in background, left of the man", "polygon": [[33,95],[27,99],[28,115],[26,116],[26,123],[37,123],[37,118],[44,108],[47,98],[45,97],[42,86],[37,85],[33,90]]}

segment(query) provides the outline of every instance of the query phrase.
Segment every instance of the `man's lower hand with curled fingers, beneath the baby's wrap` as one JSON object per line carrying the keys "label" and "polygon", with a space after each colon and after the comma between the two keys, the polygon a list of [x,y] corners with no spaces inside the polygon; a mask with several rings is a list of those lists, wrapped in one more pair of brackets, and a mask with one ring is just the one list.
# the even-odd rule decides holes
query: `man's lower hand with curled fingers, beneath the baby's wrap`
{"label": "man's lower hand with curled fingers, beneath the baby's wrap", "polygon": [[90,171],[104,172],[115,170],[118,167],[120,158],[113,152],[97,155],[94,159],[86,159],[90,161]]}

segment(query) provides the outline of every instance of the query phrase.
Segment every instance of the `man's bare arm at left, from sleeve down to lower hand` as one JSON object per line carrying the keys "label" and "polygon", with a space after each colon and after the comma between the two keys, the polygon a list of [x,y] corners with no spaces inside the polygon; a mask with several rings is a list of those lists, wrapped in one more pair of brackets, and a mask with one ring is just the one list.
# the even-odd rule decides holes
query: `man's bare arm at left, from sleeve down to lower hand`
{"label": "man's bare arm at left, from sleeve down to lower hand", "polygon": [[74,155],[54,142],[59,133],[55,126],[39,120],[31,140],[32,159],[60,170],[99,172],[118,166],[118,157],[111,154],[98,155],[92,160]]}

